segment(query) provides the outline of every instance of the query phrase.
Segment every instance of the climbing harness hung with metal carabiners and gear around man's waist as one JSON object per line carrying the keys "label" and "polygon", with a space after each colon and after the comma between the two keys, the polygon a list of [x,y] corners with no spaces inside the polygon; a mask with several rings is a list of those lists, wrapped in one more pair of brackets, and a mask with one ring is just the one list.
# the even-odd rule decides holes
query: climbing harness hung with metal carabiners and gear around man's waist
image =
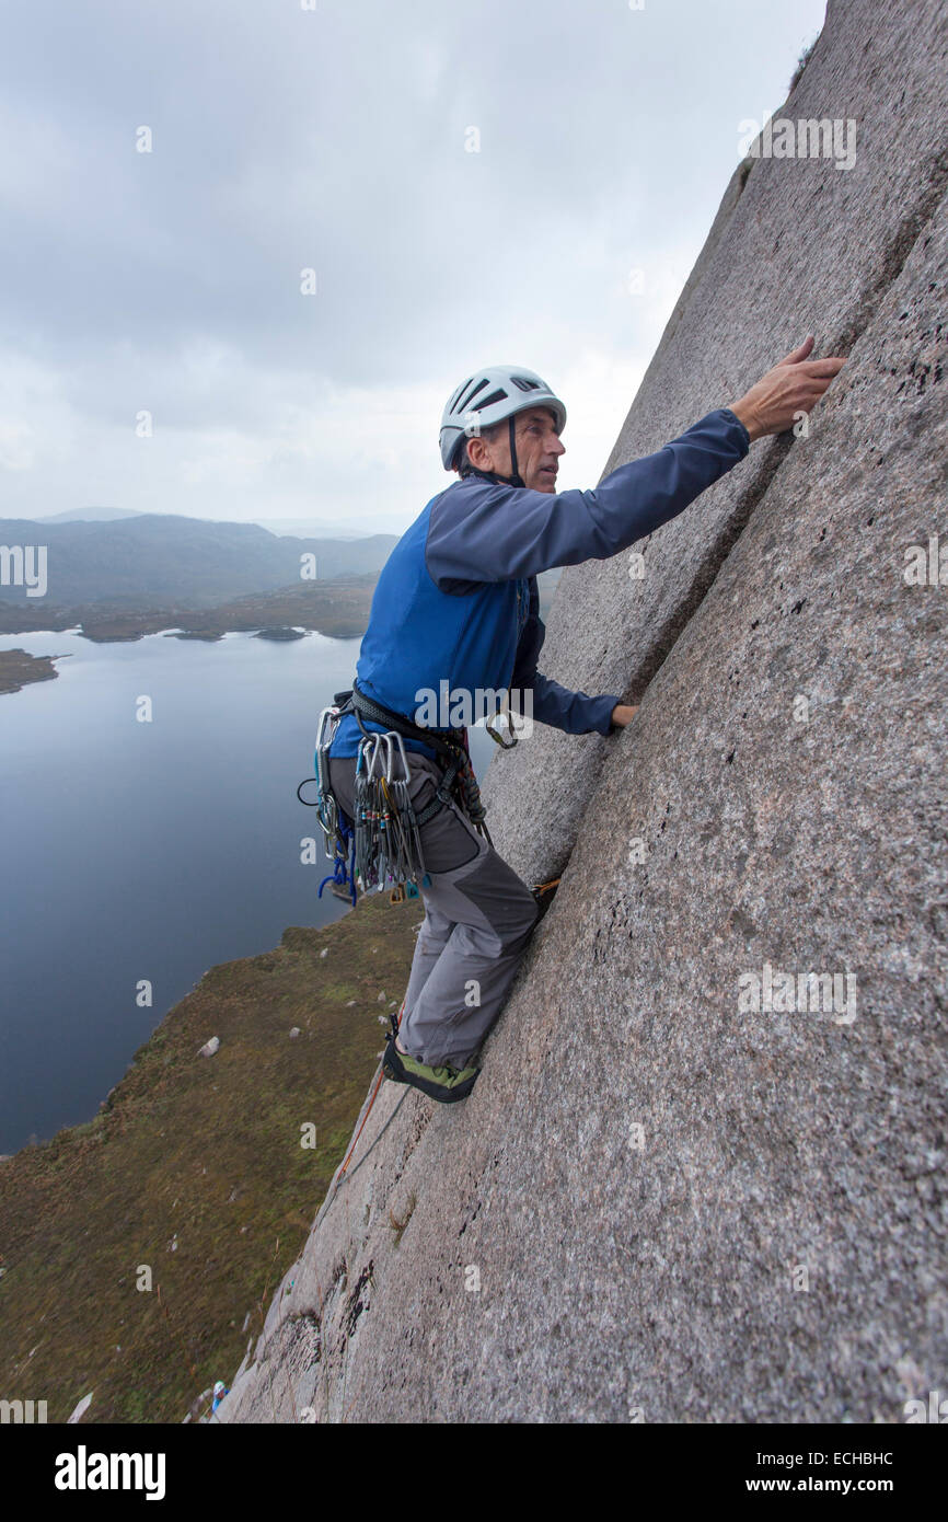
{"label": "climbing harness hung with metal carabiners and gear around man's waist", "polygon": [[[356,752],[355,819],[345,814],[329,782],[329,749],[345,714],[355,714],[362,731]],[[362,723],[364,718],[385,724],[385,732],[370,732]],[[443,769],[435,796],[420,811],[414,808],[409,796],[412,773],[405,737],[431,746]],[[304,782],[300,782],[297,798],[301,804],[317,808],[326,855],[333,863],[332,872],[320,883],[318,896],[323,896],[327,883],[333,884],[335,893],[348,889],[353,904],[359,889],[367,893],[390,887],[393,904],[418,896],[418,889],[431,883],[422,849],[422,825],[452,801],[488,845],[493,843],[470,763],[467,731],[422,729],[405,714],[396,714],[376,703],[355,683],[352,689],[333,694],[330,706],[320,714],[317,776],[307,781],[315,781],[318,785],[315,804],[303,798]]]}

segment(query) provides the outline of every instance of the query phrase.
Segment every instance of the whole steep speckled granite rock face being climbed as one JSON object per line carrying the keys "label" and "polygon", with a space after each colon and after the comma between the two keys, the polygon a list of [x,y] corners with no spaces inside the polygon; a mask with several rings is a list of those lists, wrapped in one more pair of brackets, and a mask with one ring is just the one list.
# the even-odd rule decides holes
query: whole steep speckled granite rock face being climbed
{"label": "whole steep speckled granite rock face being climbed", "polygon": [[641,712],[493,763],[495,843],[557,900],[470,1099],[382,1085],[224,1420],[901,1422],[943,1388],[946,53],[928,0],[831,0],[779,114],[854,119],[855,164],[735,175],[609,467],[808,330],[849,364],[641,580],[565,572],[542,668]]}

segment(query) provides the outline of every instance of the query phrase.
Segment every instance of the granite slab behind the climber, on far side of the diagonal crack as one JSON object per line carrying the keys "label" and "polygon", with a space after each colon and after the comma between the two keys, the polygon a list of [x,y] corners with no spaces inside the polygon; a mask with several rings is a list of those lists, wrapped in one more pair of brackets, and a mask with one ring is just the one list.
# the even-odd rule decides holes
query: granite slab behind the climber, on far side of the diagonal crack
{"label": "granite slab behind the climber, on far side of the diagonal crack", "polygon": [[[939,0],[829,5],[800,82],[775,117],[854,119],[855,164],[749,158],[735,169],[604,475],[738,400],[808,332],[817,355],[849,353],[945,189],[943,14]],[[630,552],[568,566],[546,624],[545,674],[638,703],[787,449],[785,438],[758,443],[679,519],[641,540],[644,580],[630,580]],[[484,788],[491,837],[525,880],[558,875],[616,744],[537,724],[530,743],[495,758]],[[525,802],[537,773],[542,810]]]}

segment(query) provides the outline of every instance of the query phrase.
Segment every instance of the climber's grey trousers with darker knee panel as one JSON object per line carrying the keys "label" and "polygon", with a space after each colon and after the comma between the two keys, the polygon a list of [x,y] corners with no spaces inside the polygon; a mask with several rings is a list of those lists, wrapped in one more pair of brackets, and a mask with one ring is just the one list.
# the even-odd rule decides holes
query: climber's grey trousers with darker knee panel
{"label": "climber's grey trousers with darker knee panel", "polygon": [[[409,750],[415,811],[434,798],[441,770]],[[330,756],[329,784],[353,817],[355,756]],[[517,874],[453,802],[422,825],[431,886],[418,884],[418,931],[399,1040],[429,1067],[466,1067],[501,1012],[539,918]]]}

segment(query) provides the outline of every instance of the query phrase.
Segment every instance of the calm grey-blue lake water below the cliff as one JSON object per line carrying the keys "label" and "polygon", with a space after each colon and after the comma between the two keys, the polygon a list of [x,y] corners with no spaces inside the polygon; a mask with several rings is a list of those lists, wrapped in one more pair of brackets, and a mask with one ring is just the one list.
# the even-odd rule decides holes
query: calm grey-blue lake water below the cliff
{"label": "calm grey-blue lake water below the cliff", "polygon": [[[68,656],[55,680],[0,694],[2,1154],[91,1119],[208,966],[347,913],[329,887],[317,898],[329,863],[295,790],[359,641],[0,645]],[[493,741],[473,731],[470,749],[482,778]],[[317,864],[300,860],[306,836]],[[135,1005],[142,979],[151,1009]]]}

